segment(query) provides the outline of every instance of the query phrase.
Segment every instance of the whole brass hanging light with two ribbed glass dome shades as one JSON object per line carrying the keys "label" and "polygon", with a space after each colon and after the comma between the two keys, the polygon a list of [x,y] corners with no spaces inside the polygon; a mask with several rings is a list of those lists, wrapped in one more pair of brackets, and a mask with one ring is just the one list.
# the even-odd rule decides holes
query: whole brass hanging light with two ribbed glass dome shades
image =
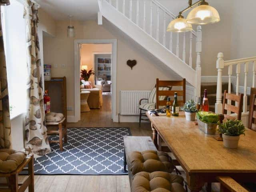
{"label": "whole brass hanging light with two ribbed glass dome shades", "polygon": [[[199,0],[192,4],[192,0],[188,0],[189,6],[180,11],[179,15],[176,19],[172,20],[167,27],[168,32],[187,32],[192,31],[191,24],[197,25],[205,25],[205,24],[213,24],[220,21],[220,15],[218,11],[214,8],[209,6],[205,0]],[[186,19],[182,16],[182,13],[190,10],[191,8],[199,5],[198,7],[194,8],[187,16]]]}

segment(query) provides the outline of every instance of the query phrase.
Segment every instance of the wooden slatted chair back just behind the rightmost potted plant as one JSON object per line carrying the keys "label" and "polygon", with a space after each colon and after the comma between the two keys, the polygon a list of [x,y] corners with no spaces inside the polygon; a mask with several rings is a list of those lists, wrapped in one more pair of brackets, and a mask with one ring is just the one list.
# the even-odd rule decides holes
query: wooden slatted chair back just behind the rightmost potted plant
{"label": "wooden slatted chair back just behind the rightmost potted plant", "polygon": [[[237,120],[241,120],[241,116],[242,116],[242,108],[243,108],[243,97],[244,94],[231,94],[231,93],[227,93],[227,90],[224,91],[224,98],[223,98],[223,107],[222,107],[222,114],[224,115],[225,118],[228,119],[234,119],[234,116],[230,116],[227,115],[226,112],[227,111],[231,111],[233,113],[236,113],[236,119]],[[226,100],[231,100],[237,102],[237,106],[234,106],[232,104],[227,104]]]}

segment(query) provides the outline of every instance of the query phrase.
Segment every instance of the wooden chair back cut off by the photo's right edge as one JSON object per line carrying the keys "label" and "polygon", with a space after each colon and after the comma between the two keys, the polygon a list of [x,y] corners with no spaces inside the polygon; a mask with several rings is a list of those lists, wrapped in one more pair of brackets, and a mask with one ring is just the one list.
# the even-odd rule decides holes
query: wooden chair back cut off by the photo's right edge
{"label": "wooden chair back cut off by the photo's right edge", "polygon": [[251,88],[248,128],[256,131],[256,88]]}

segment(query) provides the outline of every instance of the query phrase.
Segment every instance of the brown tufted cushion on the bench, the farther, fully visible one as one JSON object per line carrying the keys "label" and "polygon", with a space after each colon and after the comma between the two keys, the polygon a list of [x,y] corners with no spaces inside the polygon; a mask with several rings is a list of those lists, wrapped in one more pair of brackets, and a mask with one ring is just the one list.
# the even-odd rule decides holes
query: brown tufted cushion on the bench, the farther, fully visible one
{"label": "brown tufted cushion on the bench, the farther, fully visible one", "polygon": [[161,151],[134,151],[128,155],[128,161],[133,175],[141,171],[149,173],[164,171],[171,173],[174,170],[174,166],[168,154]]}

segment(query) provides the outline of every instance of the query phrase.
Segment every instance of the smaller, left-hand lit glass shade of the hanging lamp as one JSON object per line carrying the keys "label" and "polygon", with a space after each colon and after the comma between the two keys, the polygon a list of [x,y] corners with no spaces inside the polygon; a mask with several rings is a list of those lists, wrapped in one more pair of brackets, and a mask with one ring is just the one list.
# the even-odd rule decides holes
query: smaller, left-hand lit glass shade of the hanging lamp
{"label": "smaller, left-hand lit glass shade of the hanging lamp", "polygon": [[193,30],[192,25],[187,23],[186,19],[176,18],[169,23],[166,31],[179,33],[179,32],[187,32],[192,30]]}

